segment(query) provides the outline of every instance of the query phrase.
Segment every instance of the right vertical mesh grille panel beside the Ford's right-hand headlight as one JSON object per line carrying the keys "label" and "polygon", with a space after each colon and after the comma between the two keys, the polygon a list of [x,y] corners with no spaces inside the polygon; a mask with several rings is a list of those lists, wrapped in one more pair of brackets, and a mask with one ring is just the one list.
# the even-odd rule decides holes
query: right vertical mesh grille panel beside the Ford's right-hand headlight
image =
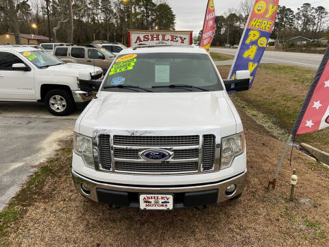
{"label": "right vertical mesh grille panel beside the Ford's right-hand headlight", "polygon": [[202,168],[204,171],[210,170],[215,163],[215,135],[205,134],[202,151]]}

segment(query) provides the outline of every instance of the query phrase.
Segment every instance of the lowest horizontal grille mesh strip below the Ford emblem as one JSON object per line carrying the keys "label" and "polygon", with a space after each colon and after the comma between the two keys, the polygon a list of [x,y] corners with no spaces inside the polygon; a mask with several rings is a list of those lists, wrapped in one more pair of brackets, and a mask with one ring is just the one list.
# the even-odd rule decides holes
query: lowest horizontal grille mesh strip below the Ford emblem
{"label": "lowest horizontal grille mesh strip below the Ford emblem", "polygon": [[115,162],[115,170],[123,172],[149,172],[149,173],[166,173],[166,172],[197,172],[198,163],[130,163]]}

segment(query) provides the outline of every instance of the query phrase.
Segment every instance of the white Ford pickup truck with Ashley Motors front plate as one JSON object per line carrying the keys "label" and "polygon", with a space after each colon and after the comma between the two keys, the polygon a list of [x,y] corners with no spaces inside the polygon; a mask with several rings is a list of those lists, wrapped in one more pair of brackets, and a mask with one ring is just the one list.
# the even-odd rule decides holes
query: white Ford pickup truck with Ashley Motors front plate
{"label": "white Ford pickup truck with Ashley Motors front plate", "polygon": [[204,49],[121,51],[75,124],[77,191],[112,208],[179,209],[239,198],[245,136],[226,91],[249,89],[249,71],[222,80]]}

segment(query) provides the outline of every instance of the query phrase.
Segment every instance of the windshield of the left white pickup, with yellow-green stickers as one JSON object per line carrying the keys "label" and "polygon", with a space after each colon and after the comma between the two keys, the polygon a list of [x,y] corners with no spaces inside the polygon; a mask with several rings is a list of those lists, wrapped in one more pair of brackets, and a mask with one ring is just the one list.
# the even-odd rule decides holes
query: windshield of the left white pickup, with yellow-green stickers
{"label": "windshield of the left white pickup, with yellow-green stickers", "polygon": [[27,58],[30,62],[32,62],[39,69],[42,67],[55,66],[58,64],[63,64],[61,60],[52,56],[47,51],[22,51],[21,54]]}

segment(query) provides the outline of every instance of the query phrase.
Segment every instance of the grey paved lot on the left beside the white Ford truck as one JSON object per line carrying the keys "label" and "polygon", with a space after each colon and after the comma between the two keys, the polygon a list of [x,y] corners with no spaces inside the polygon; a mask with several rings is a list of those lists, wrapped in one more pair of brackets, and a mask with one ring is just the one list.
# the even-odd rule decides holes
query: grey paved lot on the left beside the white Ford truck
{"label": "grey paved lot on the left beside the white Ford truck", "polygon": [[42,104],[0,102],[0,211],[34,165],[53,156],[56,140],[72,134],[75,119],[50,115]]}

